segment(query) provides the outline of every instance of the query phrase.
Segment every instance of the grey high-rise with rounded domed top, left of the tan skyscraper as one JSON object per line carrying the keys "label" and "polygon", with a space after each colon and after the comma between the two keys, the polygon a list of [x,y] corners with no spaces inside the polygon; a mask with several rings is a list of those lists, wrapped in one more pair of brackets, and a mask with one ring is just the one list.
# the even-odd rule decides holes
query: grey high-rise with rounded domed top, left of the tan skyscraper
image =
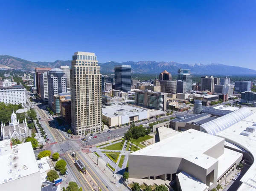
{"label": "grey high-rise with rounded domed top, left of the tan skyscraper", "polygon": [[47,72],[47,81],[49,108],[55,112],[54,95],[67,92],[67,77],[61,69],[53,68]]}

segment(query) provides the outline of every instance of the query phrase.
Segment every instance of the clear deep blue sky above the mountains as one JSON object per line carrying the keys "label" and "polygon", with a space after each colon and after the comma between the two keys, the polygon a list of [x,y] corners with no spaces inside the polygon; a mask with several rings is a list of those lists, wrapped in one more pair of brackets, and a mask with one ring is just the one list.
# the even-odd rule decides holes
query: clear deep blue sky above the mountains
{"label": "clear deep blue sky above the mountains", "polygon": [[90,51],[256,69],[256,0],[4,0],[0,20],[0,54],[30,61]]}

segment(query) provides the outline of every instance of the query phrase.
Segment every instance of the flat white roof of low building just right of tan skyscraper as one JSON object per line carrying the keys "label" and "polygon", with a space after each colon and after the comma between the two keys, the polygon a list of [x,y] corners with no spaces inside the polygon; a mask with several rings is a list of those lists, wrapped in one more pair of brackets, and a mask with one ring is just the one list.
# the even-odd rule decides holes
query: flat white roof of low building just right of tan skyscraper
{"label": "flat white roof of low building just right of tan skyscraper", "polygon": [[114,105],[113,107],[102,108],[102,114],[107,117],[117,117],[128,114],[140,113],[147,111],[143,108],[133,107],[131,105]]}

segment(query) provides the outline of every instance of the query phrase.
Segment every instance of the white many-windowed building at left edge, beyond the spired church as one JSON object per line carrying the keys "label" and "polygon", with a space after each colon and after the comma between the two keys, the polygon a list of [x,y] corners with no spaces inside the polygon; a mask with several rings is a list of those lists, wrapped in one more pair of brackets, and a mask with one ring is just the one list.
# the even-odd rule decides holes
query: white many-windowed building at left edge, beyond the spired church
{"label": "white many-windowed building at left edge, beyond the spired church", "polygon": [[12,86],[8,80],[5,80],[3,86],[0,86],[0,102],[26,105],[26,89],[23,86]]}

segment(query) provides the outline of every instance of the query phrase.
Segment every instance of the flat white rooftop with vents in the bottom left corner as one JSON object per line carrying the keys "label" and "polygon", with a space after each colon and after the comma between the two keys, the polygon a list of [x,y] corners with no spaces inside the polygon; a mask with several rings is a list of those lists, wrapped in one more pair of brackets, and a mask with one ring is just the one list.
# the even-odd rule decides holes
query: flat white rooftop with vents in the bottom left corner
{"label": "flat white rooftop with vents in the bottom left corner", "polygon": [[0,141],[0,184],[39,172],[30,142],[10,145],[10,140]]}

